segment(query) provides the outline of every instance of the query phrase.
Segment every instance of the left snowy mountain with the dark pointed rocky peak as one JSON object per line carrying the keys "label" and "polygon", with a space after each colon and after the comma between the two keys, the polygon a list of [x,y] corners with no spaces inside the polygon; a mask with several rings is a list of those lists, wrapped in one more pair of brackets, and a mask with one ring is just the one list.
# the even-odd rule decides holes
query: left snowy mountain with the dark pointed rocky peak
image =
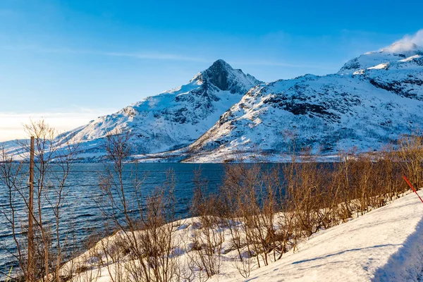
{"label": "left snowy mountain with the dark pointed rocky peak", "polygon": [[130,131],[136,154],[176,149],[197,140],[259,83],[252,75],[218,60],[186,85],[101,116],[66,135],[81,142],[84,157],[102,154],[104,137],[115,128]]}

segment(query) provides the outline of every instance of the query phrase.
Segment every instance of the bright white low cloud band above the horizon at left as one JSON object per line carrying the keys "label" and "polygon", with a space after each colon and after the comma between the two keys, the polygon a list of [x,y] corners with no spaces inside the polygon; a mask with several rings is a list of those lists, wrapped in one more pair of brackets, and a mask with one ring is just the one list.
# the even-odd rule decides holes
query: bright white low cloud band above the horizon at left
{"label": "bright white low cloud band above the horizon at left", "polygon": [[86,109],[79,108],[75,111],[55,111],[51,113],[25,113],[0,112],[0,142],[7,140],[23,139],[28,136],[23,130],[23,125],[32,121],[44,119],[59,133],[85,125],[98,116],[111,114],[114,109]]}

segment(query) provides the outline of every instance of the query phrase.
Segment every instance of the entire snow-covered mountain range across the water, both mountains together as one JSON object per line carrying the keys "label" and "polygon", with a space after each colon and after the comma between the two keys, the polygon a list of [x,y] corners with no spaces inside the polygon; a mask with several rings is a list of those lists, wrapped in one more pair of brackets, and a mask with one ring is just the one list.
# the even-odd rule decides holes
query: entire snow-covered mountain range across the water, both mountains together
{"label": "entire snow-covered mountain range across the water, both mountains together", "polygon": [[[380,149],[423,123],[423,49],[396,43],[345,63],[338,73],[264,83],[218,60],[187,85],[71,130],[87,161],[104,154],[107,133],[130,130],[134,158],[278,161],[298,147]],[[10,144],[10,143],[8,143]]]}

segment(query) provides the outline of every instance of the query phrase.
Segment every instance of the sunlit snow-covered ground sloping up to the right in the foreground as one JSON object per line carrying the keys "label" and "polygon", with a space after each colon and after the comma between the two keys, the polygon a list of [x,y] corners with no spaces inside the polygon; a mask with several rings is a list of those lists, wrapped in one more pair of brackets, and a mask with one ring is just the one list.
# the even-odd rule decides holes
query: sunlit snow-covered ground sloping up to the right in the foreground
{"label": "sunlit snow-covered ground sloping up to the right in the foreground", "polygon": [[[423,192],[419,194],[423,196]],[[196,220],[178,223],[177,244],[190,245]],[[423,277],[422,228],[423,204],[414,193],[409,193],[385,207],[314,234],[301,243],[298,250],[284,254],[268,266],[254,265],[248,278],[238,274],[233,261],[236,255],[229,250],[227,238],[222,245],[220,273],[209,281],[420,281]],[[226,231],[222,232],[228,236]],[[118,234],[107,242],[114,244]],[[187,261],[190,257],[187,253],[180,253],[179,262]],[[92,262],[90,254],[92,252],[86,252],[75,262],[87,266]],[[111,272],[104,265],[94,267],[95,278],[85,272],[74,281],[85,281],[83,277],[111,281],[109,275],[116,264],[109,266]]]}

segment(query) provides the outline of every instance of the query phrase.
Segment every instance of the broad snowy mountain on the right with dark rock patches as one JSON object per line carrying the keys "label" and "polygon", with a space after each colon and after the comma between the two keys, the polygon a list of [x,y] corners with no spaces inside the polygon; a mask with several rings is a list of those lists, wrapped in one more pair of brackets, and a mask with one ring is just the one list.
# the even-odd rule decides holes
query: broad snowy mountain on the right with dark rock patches
{"label": "broad snowy mountain on the right with dark rock patches", "polygon": [[396,43],[345,63],[331,75],[302,75],[261,84],[231,106],[185,150],[185,161],[238,155],[271,160],[299,147],[326,154],[380,149],[423,122],[423,51]]}

